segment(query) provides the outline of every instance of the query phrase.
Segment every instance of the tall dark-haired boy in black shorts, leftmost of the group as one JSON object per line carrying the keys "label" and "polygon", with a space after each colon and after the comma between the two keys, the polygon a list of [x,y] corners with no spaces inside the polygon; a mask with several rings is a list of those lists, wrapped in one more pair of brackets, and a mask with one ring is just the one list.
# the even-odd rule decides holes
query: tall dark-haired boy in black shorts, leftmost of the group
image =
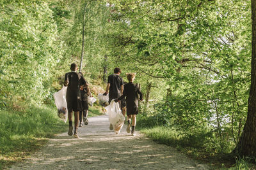
{"label": "tall dark-haired boy in black shorts, leftmost of the group", "polygon": [[81,103],[81,92],[80,87],[88,87],[88,83],[84,80],[82,73],[77,73],[77,65],[72,63],[70,66],[71,72],[65,74],[64,85],[67,86],[67,107],[68,107],[68,135],[72,136],[73,127],[72,127],[72,117],[74,111],[75,124],[74,124],[74,137],[79,138],[77,129],[78,129],[78,120],[79,120],[79,111],[82,110]]}

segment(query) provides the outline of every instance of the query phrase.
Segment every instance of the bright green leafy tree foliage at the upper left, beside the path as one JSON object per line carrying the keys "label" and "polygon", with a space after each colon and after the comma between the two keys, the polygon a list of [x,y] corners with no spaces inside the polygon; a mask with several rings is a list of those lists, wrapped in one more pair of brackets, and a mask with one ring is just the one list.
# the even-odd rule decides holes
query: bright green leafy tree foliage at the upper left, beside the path
{"label": "bright green leafy tree foliage at the upper left, beside the path", "polygon": [[1,94],[42,103],[49,96],[44,85],[63,52],[52,11],[44,2],[10,3],[1,11]]}

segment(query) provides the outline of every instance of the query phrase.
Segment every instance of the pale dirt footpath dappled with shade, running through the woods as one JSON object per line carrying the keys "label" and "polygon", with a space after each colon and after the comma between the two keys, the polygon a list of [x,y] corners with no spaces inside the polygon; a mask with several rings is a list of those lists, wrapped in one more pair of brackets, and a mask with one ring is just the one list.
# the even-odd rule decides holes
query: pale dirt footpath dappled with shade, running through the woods
{"label": "pale dirt footpath dappled with shade, running through the woods", "polygon": [[[39,152],[10,169],[209,169],[175,148],[109,130],[108,117],[89,118],[79,127],[79,139],[67,132],[49,139]],[[68,125],[67,125],[68,130]]]}

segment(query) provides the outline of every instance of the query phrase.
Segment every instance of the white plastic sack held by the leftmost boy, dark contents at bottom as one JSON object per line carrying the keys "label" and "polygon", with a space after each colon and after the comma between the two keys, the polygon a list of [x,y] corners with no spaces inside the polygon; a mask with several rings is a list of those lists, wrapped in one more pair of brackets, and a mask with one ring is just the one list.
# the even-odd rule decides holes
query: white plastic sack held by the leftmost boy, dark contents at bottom
{"label": "white plastic sack held by the leftmost boy, dark contents at bottom", "polygon": [[58,109],[58,117],[60,117],[65,123],[67,122],[68,109],[66,101],[67,87],[63,86],[62,89],[53,94],[55,104]]}

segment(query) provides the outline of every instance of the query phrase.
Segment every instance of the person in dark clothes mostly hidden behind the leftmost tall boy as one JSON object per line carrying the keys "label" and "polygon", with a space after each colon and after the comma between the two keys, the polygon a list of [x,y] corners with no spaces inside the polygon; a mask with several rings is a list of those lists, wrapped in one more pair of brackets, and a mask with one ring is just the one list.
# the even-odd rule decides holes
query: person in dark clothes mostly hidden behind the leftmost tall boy
{"label": "person in dark clothes mostly hidden behind the leftmost tall boy", "polygon": [[[82,108],[83,110],[79,112],[79,120],[80,124],[79,127],[83,126],[83,121],[84,125],[88,125],[88,109],[89,109],[89,104],[88,104],[88,97],[90,96],[90,89],[89,87],[81,87],[81,101],[82,101]],[[83,120],[82,120],[83,117]]]}

